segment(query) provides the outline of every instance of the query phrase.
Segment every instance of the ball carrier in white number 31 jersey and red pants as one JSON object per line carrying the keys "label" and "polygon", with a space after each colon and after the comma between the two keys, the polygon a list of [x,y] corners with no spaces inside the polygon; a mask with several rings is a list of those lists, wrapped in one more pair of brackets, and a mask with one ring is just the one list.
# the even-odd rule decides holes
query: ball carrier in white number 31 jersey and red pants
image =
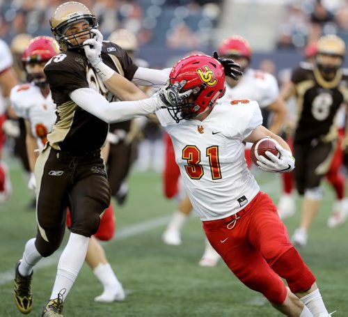
{"label": "ball carrier in white number 31 jersey and red pants", "polygon": [[[287,316],[329,317],[315,277],[292,246],[276,206],[260,192],[247,168],[244,142],[266,136],[278,141],[281,158],[269,153],[270,160],[260,159],[264,171],[291,171],[294,157],[283,139],[261,125],[257,102],[216,103],[225,91],[224,72],[223,65],[210,56],[188,56],[173,67],[170,82],[157,97],[121,104],[168,107],[157,110],[157,118],[172,137],[185,190],[207,238],[230,270]],[[93,113],[113,122],[119,118],[113,109],[116,105],[106,115],[96,107]],[[198,131],[200,125],[204,133]]]}

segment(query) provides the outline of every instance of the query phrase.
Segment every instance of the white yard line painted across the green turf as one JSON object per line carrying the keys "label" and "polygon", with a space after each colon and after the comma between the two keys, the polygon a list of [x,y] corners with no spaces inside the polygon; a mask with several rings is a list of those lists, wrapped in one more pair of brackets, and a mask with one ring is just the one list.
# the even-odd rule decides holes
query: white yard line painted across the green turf
{"label": "white yard line painted across the green turf", "polygon": [[[133,237],[134,235],[139,235],[146,231],[151,231],[152,229],[156,229],[160,226],[168,224],[169,219],[171,219],[171,216],[159,217],[148,222],[141,222],[140,224],[134,224],[134,226],[127,226],[123,229],[119,229],[116,231],[115,238],[106,243],[113,243],[118,240],[124,240],[126,238]],[[56,252],[52,256],[49,256],[49,258],[42,258],[38,265],[35,266],[35,270],[40,270],[42,268],[48,268],[52,265],[57,265],[59,256],[61,256],[61,251]],[[13,281],[13,278],[15,277],[14,268],[15,266],[13,265],[13,268],[11,268],[10,270],[0,272],[0,285]]]}

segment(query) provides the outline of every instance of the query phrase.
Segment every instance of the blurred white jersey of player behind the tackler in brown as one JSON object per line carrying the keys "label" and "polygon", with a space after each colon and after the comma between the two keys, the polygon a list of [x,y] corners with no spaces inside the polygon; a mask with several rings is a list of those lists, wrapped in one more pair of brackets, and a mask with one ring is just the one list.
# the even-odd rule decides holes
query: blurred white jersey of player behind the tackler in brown
{"label": "blurred white jersey of player behind the tackler in brown", "polygon": [[45,98],[35,84],[22,84],[12,88],[10,101],[17,116],[30,121],[31,132],[37,138],[38,148],[43,148],[47,133],[51,131],[57,118],[51,93]]}

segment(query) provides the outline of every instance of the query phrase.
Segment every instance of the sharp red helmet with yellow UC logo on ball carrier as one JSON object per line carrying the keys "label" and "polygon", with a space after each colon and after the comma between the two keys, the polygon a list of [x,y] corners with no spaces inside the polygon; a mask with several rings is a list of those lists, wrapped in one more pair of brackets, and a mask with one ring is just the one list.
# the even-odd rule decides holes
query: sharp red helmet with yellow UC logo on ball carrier
{"label": "sharp red helmet with yellow UC logo on ball carrier", "polygon": [[[186,84],[182,87],[182,91],[190,89],[193,91],[180,105],[168,107],[169,113],[176,122],[198,116],[208,107],[213,107],[226,90],[223,65],[207,55],[184,57],[174,65],[169,79],[170,84],[185,80]],[[192,96],[193,100],[191,100]]]}

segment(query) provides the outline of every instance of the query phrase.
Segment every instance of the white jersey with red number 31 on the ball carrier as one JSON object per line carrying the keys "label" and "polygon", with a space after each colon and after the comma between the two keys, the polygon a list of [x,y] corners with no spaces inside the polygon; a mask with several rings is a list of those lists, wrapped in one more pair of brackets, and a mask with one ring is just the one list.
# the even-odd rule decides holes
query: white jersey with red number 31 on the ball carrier
{"label": "white jersey with red number 31 on the ball carrier", "polygon": [[235,214],[260,191],[246,167],[242,142],[262,124],[262,115],[258,102],[246,102],[217,102],[203,121],[175,123],[167,109],[156,112],[171,136],[185,190],[203,221]]}

